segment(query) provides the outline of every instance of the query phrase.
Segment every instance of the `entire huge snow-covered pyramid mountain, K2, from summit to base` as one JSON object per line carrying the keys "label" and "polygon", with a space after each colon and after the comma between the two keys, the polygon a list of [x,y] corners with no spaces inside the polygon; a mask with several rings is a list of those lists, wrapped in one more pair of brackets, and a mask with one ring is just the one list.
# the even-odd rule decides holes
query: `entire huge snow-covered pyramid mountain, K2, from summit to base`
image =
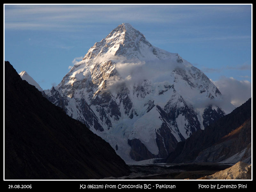
{"label": "entire huge snow-covered pyramid mountain, K2, from summit to base", "polygon": [[127,23],[95,43],[45,94],[126,162],[164,158],[225,114],[220,91],[202,71]]}

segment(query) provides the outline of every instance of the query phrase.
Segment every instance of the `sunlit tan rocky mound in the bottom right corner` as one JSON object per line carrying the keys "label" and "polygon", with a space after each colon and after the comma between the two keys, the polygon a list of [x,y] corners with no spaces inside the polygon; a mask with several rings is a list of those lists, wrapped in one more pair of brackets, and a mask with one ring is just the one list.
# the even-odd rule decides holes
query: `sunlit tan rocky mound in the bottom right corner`
{"label": "sunlit tan rocky mound in the bottom right corner", "polygon": [[[202,178],[203,179],[203,178]],[[252,165],[239,161],[232,167],[206,176],[205,179],[213,180],[251,180]]]}

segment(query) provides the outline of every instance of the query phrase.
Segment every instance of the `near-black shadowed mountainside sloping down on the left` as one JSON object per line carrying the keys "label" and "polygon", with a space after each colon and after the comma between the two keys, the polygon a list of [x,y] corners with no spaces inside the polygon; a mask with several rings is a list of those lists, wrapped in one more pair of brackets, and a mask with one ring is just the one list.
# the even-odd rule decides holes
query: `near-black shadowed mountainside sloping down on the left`
{"label": "near-black shadowed mountainside sloping down on the left", "polygon": [[129,175],[103,139],[22,81],[5,62],[5,179],[100,179]]}

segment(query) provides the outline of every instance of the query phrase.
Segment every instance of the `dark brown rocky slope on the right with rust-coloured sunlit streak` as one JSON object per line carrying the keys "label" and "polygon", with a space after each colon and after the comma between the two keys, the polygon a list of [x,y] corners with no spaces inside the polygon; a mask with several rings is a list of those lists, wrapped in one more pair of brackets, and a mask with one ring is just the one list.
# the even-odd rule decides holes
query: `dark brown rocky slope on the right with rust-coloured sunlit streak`
{"label": "dark brown rocky slope on the right with rust-coloured sunlit streak", "polygon": [[192,134],[170,153],[166,162],[250,162],[251,105],[249,99],[205,130]]}

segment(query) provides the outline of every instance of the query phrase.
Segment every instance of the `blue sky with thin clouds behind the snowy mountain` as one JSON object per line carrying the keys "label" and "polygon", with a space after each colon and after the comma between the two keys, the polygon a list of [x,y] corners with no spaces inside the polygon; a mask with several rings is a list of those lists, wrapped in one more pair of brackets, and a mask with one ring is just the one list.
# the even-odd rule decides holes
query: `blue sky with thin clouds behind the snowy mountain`
{"label": "blue sky with thin clouds behind the snowy mountain", "polygon": [[50,89],[95,42],[126,22],[152,45],[179,53],[201,69],[222,87],[222,94],[235,84],[247,87],[247,98],[252,82],[251,16],[251,4],[4,4],[4,60]]}

